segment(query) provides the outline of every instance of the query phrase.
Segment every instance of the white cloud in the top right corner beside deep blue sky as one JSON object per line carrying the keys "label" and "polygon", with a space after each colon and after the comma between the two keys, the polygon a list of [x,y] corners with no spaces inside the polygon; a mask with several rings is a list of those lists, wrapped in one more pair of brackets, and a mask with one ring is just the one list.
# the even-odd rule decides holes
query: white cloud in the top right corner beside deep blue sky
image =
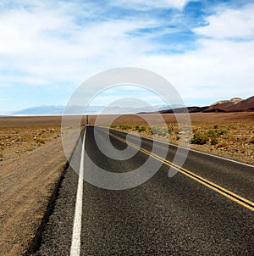
{"label": "white cloud in the top right corner beside deep blue sky", "polygon": [[214,38],[254,39],[254,4],[241,9],[220,9],[207,17],[207,23],[194,31]]}

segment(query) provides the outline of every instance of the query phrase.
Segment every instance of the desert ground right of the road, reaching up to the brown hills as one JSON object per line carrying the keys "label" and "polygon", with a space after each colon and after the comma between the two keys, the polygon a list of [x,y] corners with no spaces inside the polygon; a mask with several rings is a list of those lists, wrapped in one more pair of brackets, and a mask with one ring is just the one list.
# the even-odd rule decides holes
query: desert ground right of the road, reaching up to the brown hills
{"label": "desert ground right of the road, reaching up to the brown hills", "polygon": [[[174,114],[163,114],[168,131],[163,130],[155,116],[147,117],[146,115],[121,116],[113,122],[111,127],[122,131],[135,131],[141,136],[153,137],[176,145],[186,145],[205,153],[254,164],[253,112],[195,113],[190,116],[191,136],[185,136],[188,143],[179,143],[182,135]],[[149,120],[153,127],[149,127],[144,120]]]}

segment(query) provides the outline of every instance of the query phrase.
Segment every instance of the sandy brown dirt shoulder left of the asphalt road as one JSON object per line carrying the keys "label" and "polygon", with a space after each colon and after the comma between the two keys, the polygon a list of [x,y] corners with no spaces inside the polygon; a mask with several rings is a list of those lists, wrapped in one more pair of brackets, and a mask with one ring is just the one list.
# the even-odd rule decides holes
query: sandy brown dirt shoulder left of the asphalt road
{"label": "sandy brown dirt shoulder left of the asphalt road", "polygon": [[63,172],[60,127],[0,125],[0,255],[29,248]]}

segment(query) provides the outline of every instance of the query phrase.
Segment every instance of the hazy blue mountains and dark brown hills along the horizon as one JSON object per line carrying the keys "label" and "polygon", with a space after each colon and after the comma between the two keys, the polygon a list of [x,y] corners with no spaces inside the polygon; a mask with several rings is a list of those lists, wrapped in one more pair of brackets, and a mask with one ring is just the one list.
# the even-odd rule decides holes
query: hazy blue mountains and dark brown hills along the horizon
{"label": "hazy blue mountains and dark brown hills along the horizon", "polygon": [[161,114],[184,113],[188,109],[189,113],[210,113],[210,112],[243,112],[254,111],[254,96],[247,99],[234,97],[229,100],[222,100],[204,107],[187,107],[183,108],[179,105],[157,105],[154,107],[105,107],[105,106],[89,106],[86,111],[80,106],[71,106],[65,109],[65,106],[40,106],[29,109],[14,111],[9,115],[62,115],[65,114],[149,114],[159,112]]}

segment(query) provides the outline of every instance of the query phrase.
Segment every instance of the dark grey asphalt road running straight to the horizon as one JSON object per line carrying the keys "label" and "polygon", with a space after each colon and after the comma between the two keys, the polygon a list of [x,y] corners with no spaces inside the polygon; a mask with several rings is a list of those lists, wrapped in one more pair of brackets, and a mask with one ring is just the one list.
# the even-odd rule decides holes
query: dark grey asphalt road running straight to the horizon
{"label": "dark grey asphalt road running straight to the horizon", "polygon": [[[135,153],[128,160],[105,156],[97,147],[94,129],[99,135],[97,143],[108,143],[102,128],[88,126],[85,148],[92,162],[102,169],[123,173],[137,169],[149,158],[145,151]],[[126,135],[120,131],[111,133],[110,141],[119,149],[120,157],[120,150],[126,148]],[[138,144],[135,136],[130,136],[130,142]],[[75,148],[76,161],[81,159],[80,145]],[[159,155],[168,145],[162,142],[152,145],[152,141],[142,139],[141,147],[146,151],[156,147]],[[169,146],[167,150],[166,159],[172,161],[176,147]],[[93,165],[84,161],[85,173],[87,169],[92,171]],[[153,161],[157,166],[158,159]],[[226,191],[253,201],[254,168],[251,166],[191,151],[183,167],[208,180],[210,185],[223,186]],[[153,168],[153,163],[149,168]],[[69,255],[74,243],[79,182],[78,175],[69,168],[35,255]],[[74,252],[80,255],[253,255],[253,211],[230,193],[218,192],[210,185],[181,172],[168,178],[167,164],[151,179],[130,189],[107,190],[84,181],[79,199],[80,241],[76,241],[80,248]]]}

